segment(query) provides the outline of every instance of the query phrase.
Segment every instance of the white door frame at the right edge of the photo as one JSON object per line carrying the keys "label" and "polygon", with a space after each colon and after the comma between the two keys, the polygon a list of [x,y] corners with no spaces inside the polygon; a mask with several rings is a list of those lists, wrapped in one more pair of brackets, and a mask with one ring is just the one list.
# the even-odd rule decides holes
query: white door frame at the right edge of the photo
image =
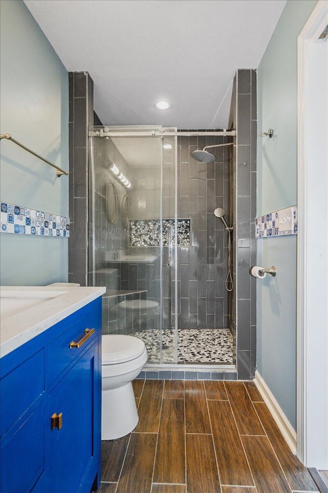
{"label": "white door frame at the right edge of the photo", "polygon": [[[310,46],[318,41],[320,34],[325,29],[327,16],[328,2],[327,0],[319,0],[297,38],[297,456],[305,466],[320,469],[328,469],[327,418],[323,419],[323,416],[328,416],[328,351],[327,348],[320,348],[320,345],[324,346],[326,337],[324,331],[327,331],[328,324],[327,311],[322,307],[324,292],[326,293],[327,272],[326,260],[323,260],[320,266],[322,270],[316,273],[317,279],[315,279],[313,261],[317,252],[313,249],[311,241],[313,242],[314,229],[319,223],[318,217],[314,217],[312,214],[314,202],[317,204],[321,200],[323,212],[327,211],[327,195],[321,199],[318,198],[317,189],[313,184],[314,180],[309,180],[309,177],[313,177],[317,173],[318,182],[320,177],[322,180],[326,180],[326,172],[323,168],[326,163],[316,160],[315,166],[313,166],[311,145],[314,143],[315,130],[310,127],[310,121],[315,116],[315,112],[326,111],[326,109],[320,104],[310,104],[314,93],[310,92],[311,71],[309,64]],[[328,41],[325,40],[323,43],[328,43]],[[320,136],[317,139],[320,139]],[[320,212],[318,211],[317,216],[320,215]],[[311,221],[309,221],[310,215]],[[318,230],[315,233],[318,233]],[[326,231],[321,234],[326,235]],[[321,249],[322,258],[326,259],[328,255],[327,243],[326,241],[325,244],[323,243],[320,246],[319,241],[318,248]],[[318,256],[315,259],[319,262]],[[320,283],[322,278],[320,277],[318,280],[318,274],[323,277],[322,282],[326,282],[326,285],[323,286],[323,294],[319,288],[319,299],[315,300],[314,293],[317,289],[318,294],[318,282]],[[323,298],[320,304],[321,295]],[[319,318],[320,316],[321,318]],[[315,358],[314,347],[317,347],[318,351],[321,352],[321,358]],[[324,352],[325,361],[322,361]],[[320,407],[322,412],[317,411]]]}

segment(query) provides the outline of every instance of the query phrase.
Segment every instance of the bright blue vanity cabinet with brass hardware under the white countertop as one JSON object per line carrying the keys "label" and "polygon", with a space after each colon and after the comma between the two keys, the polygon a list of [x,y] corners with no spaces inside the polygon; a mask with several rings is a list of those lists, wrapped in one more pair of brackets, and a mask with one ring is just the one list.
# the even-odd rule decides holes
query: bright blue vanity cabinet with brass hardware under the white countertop
{"label": "bright blue vanity cabinet with brass hardware under the white countertop", "polygon": [[1,493],[99,486],[100,355],[97,298],[1,359]]}

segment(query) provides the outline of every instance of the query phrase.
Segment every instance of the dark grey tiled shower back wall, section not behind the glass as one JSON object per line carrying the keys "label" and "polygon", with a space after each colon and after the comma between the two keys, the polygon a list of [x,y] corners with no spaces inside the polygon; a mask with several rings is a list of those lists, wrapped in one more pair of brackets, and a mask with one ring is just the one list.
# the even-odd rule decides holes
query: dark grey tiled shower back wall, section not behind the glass
{"label": "dark grey tiled shower back wall, section not behind the glass", "polygon": [[[230,295],[224,289],[228,233],[213,214],[230,214],[231,146],[213,149],[215,163],[198,163],[191,154],[231,137],[178,137],[178,217],[191,218],[191,246],[178,248],[178,327],[229,328]],[[164,274],[165,275],[165,274]]]}

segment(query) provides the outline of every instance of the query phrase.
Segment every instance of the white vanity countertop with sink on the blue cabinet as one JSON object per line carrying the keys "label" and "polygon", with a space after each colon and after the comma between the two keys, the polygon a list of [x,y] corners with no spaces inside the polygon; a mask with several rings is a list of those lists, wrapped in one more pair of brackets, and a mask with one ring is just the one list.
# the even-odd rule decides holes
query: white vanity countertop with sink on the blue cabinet
{"label": "white vanity countertop with sink on the blue cabinet", "polygon": [[[9,309],[8,316],[4,313],[4,317],[1,317],[1,358],[98,298],[106,292],[106,288],[78,288],[60,286],[60,284],[45,287],[2,286],[0,288],[0,296],[3,295],[7,299],[10,298],[11,293],[13,297],[16,294],[24,296],[26,293],[26,298],[28,298],[29,292],[30,295],[40,294],[36,306],[26,308],[22,304],[17,313],[11,314]],[[54,297],[47,299],[47,293]]]}

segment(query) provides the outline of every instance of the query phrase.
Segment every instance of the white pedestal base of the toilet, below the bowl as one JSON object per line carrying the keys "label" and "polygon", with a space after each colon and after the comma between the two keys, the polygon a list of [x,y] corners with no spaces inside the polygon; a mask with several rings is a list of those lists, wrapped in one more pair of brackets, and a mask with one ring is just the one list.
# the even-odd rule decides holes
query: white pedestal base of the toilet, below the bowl
{"label": "white pedestal base of the toilet, below the bowl", "polygon": [[101,440],[115,440],[130,433],[139,416],[132,382],[101,392]]}

